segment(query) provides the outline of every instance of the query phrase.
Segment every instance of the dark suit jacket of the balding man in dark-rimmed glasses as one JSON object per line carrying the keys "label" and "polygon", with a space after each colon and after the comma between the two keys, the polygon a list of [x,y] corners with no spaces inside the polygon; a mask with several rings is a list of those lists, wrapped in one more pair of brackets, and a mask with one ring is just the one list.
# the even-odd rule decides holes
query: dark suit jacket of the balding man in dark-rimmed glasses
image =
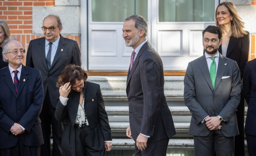
{"label": "dark suit jacket of the balding man in dark-rimmed glasses", "polygon": [[76,41],[64,38],[60,34],[59,45],[49,71],[45,58],[45,38],[42,37],[29,42],[26,66],[41,71],[44,85],[44,97],[48,90],[50,101],[54,108],[56,107],[56,82],[58,81],[58,76],[61,75],[65,66],[71,63],[81,66],[80,50]]}

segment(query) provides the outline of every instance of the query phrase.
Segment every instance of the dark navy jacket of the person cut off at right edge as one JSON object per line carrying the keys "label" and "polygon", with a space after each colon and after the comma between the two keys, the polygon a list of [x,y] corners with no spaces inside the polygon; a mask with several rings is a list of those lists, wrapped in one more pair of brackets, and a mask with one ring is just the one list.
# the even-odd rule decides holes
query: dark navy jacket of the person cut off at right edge
{"label": "dark navy jacket of the person cut off at right edge", "polygon": [[243,94],[248,104],[245,133],[256,135],[256,59],[246,63],[243,73]]}

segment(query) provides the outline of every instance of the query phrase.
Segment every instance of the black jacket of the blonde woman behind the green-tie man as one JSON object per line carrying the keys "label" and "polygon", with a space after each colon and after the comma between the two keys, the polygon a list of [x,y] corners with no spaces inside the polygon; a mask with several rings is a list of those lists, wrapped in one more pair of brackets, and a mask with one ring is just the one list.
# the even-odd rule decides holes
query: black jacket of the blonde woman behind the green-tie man
{"label": "black jacket of the blonde woman behind the green-tie man", "polygon": [[[243,79],[243,70],[245,69],[245,64],[248,61],[249,55],[250,40],[249,32],[247,33],[247,35],[240,38],[234,38],[233,36],[230,37],[226,55],[227,58],[236,61],[241,72],[241,80]],[[219,46],[218,51],[222,54],[221,45]]]}

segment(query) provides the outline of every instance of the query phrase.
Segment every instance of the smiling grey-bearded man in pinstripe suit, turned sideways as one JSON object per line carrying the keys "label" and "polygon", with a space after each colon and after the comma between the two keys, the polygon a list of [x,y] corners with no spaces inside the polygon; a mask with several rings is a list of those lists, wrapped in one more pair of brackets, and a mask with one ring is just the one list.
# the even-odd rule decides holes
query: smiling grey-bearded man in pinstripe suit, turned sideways
{"label": "smiling grey-bearded man in pinstripe suit, turned sideways", "polygon": [[164,96],[163,63],[146,36],[142,16],[125,19],[125,45],[134,49],[126,83],[130,117],[126,135],[136,142],[136,156],[166,156],[169,137],[176,132]]}

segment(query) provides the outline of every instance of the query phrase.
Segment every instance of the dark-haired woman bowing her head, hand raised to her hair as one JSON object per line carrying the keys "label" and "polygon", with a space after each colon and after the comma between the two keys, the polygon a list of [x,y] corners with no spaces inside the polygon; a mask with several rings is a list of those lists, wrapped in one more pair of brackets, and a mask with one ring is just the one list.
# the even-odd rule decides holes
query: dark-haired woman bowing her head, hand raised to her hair
{"label": "dark-haired woman bowing her head, hand raised to her hair", "polygon": [[64,156],[105,156],[112,147],[108,115],[100,86],[87,82],[86,71],[70,64],[59,76],[57,121],[65,120],[62,135]]}

